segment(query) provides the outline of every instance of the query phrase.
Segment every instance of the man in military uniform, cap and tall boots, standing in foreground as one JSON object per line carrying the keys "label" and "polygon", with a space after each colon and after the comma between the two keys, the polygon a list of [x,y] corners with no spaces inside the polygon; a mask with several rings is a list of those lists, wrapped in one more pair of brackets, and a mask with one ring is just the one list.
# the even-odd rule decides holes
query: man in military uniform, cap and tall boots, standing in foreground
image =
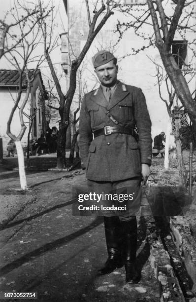
{"label": "man in military uniform, cap and tall boots, standing in foreground", "polygon": [[[117,80],[114,55],[102,50],[92,61],[100,86],[84,96],[79,125],[81,163],[88,187],[97,193],[126,189],[134,194],[125,211],[103,211],[108,259],[99,272],[110,273],[125,264],[126,282],[136,283],[135,213],[141,202],[141,181],[146,182],[150,174],[151,121],[141,89]],[[105,205],[113,203],[105,201]]]}

